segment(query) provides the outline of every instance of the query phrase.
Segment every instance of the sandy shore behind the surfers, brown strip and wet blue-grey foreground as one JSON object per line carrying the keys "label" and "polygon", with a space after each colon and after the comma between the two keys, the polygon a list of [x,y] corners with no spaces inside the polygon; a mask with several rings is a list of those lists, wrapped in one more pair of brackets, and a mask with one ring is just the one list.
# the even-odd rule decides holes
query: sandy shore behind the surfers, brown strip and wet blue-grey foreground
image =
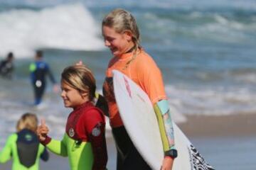
{"label": "sandy shore behind the surfers, brown strip and wet blue-grey foreground", "polygon": [[[223,116],[188,116],[186,123],[178,126],[206,161],[215,169],[256,169],[252,160],[256,156],[256,114]],[[110,132],[107,132],[109,135]],[[107,137],[108,169],[114,169],[116,153],[114,141]],[[239,162],[238,162],[239,159]],[[11,169],[11,162],[0,165],[1,170]],[[50,154],[41,169],[69,169],[68,159]]]}

